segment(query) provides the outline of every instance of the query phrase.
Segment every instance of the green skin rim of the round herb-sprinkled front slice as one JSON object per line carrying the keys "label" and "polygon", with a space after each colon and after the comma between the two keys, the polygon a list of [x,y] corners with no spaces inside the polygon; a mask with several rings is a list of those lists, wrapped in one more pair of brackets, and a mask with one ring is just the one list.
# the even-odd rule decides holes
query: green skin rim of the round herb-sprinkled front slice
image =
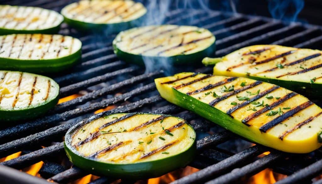
{"label": "green skin rim of the round herb-sprinkled front slice", "polygon": [[187,150],[177,155],[166,157],[164,159],[138,162],[133,164],[111,164],[80,156],[79,152],[71,146],[72,134],[84,124],[108,115],[111,115],[111,113],[107,111],[96,114],[71,127],[71,129],[69,129],[66,133],[64,149],[68,158],[77,167],[88,170],[96,175],[137,180],[162,176],[172,170],[187,166],[191,162],[191,160],[194,159],[197,145],[196,140],[194,140],[193,144]]}

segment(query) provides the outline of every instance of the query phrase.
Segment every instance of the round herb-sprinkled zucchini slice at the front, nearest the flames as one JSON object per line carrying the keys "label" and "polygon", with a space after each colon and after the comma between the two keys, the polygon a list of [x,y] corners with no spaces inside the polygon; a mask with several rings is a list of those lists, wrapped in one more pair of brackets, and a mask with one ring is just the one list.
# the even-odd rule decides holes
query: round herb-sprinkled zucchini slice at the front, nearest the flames
{"label": "round herb-sprinkled zucchini slice at the front, nearest the flames", "polygon": [[65,151],[74,165],[94,174],[144,179],[185,167],[194,158],[195,138],[181,118],[103,112],[66,133]]}

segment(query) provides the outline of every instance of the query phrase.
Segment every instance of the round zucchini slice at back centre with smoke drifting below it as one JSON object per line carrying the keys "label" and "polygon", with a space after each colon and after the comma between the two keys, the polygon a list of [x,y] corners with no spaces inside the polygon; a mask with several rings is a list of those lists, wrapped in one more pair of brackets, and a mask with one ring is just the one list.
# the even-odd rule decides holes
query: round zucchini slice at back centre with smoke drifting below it
{"label": "round zucchini slice at back centre with smoke drifting below it", "polygon": [[152,25],[119,33],[113,41],[114,53],[129,63],[195,63],[215,51],[215,37],[204,28]]}

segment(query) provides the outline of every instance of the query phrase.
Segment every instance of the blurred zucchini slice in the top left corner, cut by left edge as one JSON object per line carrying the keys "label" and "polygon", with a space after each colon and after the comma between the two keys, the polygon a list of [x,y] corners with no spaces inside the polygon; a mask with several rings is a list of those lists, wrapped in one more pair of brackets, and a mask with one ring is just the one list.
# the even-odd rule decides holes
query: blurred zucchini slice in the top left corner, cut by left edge
{"label": "blurred zucchini slice in the top left corner, cut by left edge", "polygon": [[55,34],[64,17],[39,7],[0,5],[0,35]]}

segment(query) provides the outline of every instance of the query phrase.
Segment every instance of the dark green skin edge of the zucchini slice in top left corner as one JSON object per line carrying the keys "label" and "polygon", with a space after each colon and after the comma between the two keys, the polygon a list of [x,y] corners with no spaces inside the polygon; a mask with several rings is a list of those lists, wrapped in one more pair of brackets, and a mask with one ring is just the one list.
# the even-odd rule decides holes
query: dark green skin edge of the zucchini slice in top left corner
{"label": "dark green skin edge of the zucchini slice in top left corner", "polygon": [[0,35],[5,34],[56,34],[60,30],[60,25],[56,27],[52,27],[49,29],[41,29],[41,30],[14,30],[14,29],[4,29],[0,28]]}

